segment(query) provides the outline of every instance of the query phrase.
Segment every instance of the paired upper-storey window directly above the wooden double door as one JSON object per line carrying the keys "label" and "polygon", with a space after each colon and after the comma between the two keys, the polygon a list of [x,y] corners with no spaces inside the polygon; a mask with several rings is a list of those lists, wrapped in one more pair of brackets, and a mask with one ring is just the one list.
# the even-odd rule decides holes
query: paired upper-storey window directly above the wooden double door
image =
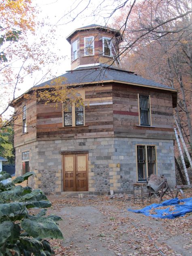
{"label": "paired upper-storey window directly above the wooden double door", "polygon": [[84,125],[84,106],[72,104],[70,100],[63,103],[63,126]]}

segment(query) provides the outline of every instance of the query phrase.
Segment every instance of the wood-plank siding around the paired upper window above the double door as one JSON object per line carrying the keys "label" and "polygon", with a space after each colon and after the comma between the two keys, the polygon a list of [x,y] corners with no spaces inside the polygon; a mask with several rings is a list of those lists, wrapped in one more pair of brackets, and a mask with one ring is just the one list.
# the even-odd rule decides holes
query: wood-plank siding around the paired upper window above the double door
{"label": "wood-plank siding around the paired upper window above the double door", "polygon": [[85,87],[85,126],[63,127],[62,104],[37,104],[37,139],[72,139],[113,135],[112,86]]}

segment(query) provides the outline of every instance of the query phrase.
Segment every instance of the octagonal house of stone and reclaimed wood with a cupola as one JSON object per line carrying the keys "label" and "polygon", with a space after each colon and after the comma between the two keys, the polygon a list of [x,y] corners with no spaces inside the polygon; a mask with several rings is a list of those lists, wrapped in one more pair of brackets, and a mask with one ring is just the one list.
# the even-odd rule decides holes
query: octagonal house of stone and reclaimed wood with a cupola
{"label": "octagonal house of stone and reclaimed wood with a cupola", "polygon": [[[144,79],[114,61],[122,36],[91,25],[67,37],[71,67],[60,78],[75,86],[85,107],[57,108],[21,95],[15,113],[16,175],[35,171],[30,185],[45,192],[132,192],[151,173],[175,185],[173,107],[177,91]],[[22,125],[22,127],[21,127]]]}

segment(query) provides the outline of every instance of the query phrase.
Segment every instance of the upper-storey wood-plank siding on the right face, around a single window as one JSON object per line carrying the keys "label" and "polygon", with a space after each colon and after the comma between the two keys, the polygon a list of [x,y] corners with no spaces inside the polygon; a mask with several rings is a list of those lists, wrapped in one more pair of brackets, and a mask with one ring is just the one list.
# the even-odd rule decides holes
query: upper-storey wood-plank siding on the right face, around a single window
{"label": "upper-storey wood-plank siding on the right face, around a single window", "polygon": [[[150,95],[151,127],[139,126],[138,94]],[[113,85],[114,135],[150,139],[174,139],[171,92]]]}

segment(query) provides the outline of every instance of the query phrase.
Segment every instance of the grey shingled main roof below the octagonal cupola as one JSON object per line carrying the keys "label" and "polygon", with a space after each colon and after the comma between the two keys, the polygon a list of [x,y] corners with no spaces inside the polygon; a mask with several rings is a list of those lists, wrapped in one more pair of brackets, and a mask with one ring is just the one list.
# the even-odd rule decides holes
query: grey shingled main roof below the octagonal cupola
{"label": "grey shingled main roof below the octagonal cupola", "polygon": [[[156,83],[155,81],[145,79],[138,75],[134,75],[132,72],[118,69],[109,68],[105,66],[94,66],[86,68],[77,68],[75,70],[67,71],[65,74],[61,75],[63,78],[62,84],[71,85],[82,85],[83,83],[104,83],[105,81],[119,81],[121,83],[134,83],[138,85],[147,85],[149,87],[158,87],[173,89],[167,85]],[[43,87],[45,85],[50,85],[51,80],[44,82],[36,87]],[[176,91],[176,90],[175,90]]]}

